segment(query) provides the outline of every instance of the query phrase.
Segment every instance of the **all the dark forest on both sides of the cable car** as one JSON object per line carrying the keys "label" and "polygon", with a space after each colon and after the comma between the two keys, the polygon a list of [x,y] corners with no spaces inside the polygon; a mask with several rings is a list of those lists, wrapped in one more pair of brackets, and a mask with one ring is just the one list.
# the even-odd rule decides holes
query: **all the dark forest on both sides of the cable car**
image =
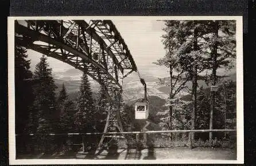
{"label": "all the dark forest on both sides of the cable car", "polygon": [[[149,120],[162,130],[235,129],[236,82],[218,76],[218,69],[234,68],[236,58],[235,21],[165,21],[162,36],[166,54],[155,62],[169,69],[169,98],[150,96]],[[57,92],[52,69],[42,55],[34,72],[30,70],[26,48],[15,46],[15,133],[16,153],[51,153],[67,149],[69,141],[86,151],[99,136],[49,136],[44,133],[103,132],[106,121],[106,89],[91,90],[86,70],[81,77],[78,97],[68,97],[65,84]],[[210,74],[209,74],[210,73]],[[199,87],[203,80],[207,88]],[[192,86],[187,82],[191,81]],[[212,85],[218,85],[216,92]],[[181,90],[189,92],[179,96]],[[133,131],[134,107],[124,105],[121,113],[125,131]],[[29,135],[30,134],[30,135]],[[159,136],[159,135],[158,135]],[[187,140],[187,133],[164,135],[158,142]],[[193,141],[232,140],[227,133],[197,133]],[[155,139],[157,140],[157,139]],[[157,141],[156,141],[157,142]],[[69,147],[70,148],[70,147]]]}

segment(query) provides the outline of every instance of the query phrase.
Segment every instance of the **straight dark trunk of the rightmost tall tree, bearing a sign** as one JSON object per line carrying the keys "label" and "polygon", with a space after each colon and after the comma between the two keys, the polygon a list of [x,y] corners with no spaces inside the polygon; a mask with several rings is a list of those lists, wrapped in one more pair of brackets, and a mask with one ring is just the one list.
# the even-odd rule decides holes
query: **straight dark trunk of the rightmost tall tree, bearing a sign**
{"label": "straight dark trunk of the rightmost tall tree, bearing a sign", "polygon": [[[212,66],[212,85],[216,85],[216,70],[218,68],[217,66],[217,50],[218,50],[218,43],[217,43],[217,39],[218,39],[218,31],[219,31],[219,26],[218,26],[218,22],[215,23],[215,44],[214,44],[214,49],[212,50],[212,54],[213,54],[213,60],[214,60],[214,64]],[[213,129],[213,122],[214,122],[214,112],[215,112],[215,92],[211,92],[211,112],[210,112],[210,130]],[[209,140],[212,141],[212,132],[209,133]]]}

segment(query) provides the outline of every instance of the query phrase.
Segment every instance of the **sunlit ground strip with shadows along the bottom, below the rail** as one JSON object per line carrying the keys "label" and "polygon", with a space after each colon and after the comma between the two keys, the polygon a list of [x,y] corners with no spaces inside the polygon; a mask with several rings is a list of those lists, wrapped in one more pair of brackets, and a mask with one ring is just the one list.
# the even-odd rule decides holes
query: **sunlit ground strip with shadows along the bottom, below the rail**
{"label": "sunlit ground strip with shadows along the bottom, below the rail", "polygon": [[77,153],[77,159],[119,159],[119,160],[161,160],[161,159],[191,159],[191,160],[236,160],[234,149],[223,148],[154,148],[142,149],[117,149],[96,151],[95,154]]}

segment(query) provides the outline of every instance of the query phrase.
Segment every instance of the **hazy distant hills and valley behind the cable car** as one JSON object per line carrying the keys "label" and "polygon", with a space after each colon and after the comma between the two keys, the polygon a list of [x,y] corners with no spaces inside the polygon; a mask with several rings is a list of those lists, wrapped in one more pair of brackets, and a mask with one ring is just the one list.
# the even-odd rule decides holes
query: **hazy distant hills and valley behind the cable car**
{"label": "hazy distant hills and valley behind the cable car", "polygon": [[[66,72],[60,72],[59,74],[55,74],[55,84],[57,86],[56,93],[59,95],[59,91],[62,88],[62,84],[64,83],[68,96],[71,100],[78,97],[79,92],[79,85],[80,85],[80,77],[82,75],[82,72],[77,69],[71,69]],[[168,76],[168,75],[166,75]],[[149,99],[149,118],[148,122],[149,125],[147,129],[149,130],[162,130],[162,128],[158,125],[161,120],[160,118],[168,116],[168,107],[165,106],[166,104],[166,98],[169,96],[169,87],[159,85],[158,78],[155,76],[147,75],[144,77],[147,84],[147,92],[148,92],[148,99]],[[160,77],[163,78],[163,77]],[[165,77],[165,79],[169,79],[168,77]],[[236,81],[236,73],[229,73],[227,77],[223,78],[223,81],[232,80]],[[204,80],[198,80],[197,81],[199,87],[203,86],[203,88],[208,88],[210,86],[207,86],[204,82]],[[93,97],[96,98],[98,96],[98,92],[100,89],[100,85],[98,82],[92,80],[90,78],[90,84],[91,89],[93,93]],[[222,84],[221,82],[219,84]],[[187,82],[188,87],[192,87],[192,82]],[[142,98],[144,96],[144,89],[139,81],[139,78],[136,73],[133,73],[130,75],[129,78],[125,78],[123,82],[123,100],[128,105],[133,105],[134,102],[138,98]],[[186,90],[181,90],[179,93],[179,97],[182,98],[182,100],[190,101],[192,99],[191,94],[186,92]],[[166,114],[167,111],[167,114]],[[134,120],[134,125],[137,126],[138,129],[141,129],[145,124],[146,121],[141,120]]]}

